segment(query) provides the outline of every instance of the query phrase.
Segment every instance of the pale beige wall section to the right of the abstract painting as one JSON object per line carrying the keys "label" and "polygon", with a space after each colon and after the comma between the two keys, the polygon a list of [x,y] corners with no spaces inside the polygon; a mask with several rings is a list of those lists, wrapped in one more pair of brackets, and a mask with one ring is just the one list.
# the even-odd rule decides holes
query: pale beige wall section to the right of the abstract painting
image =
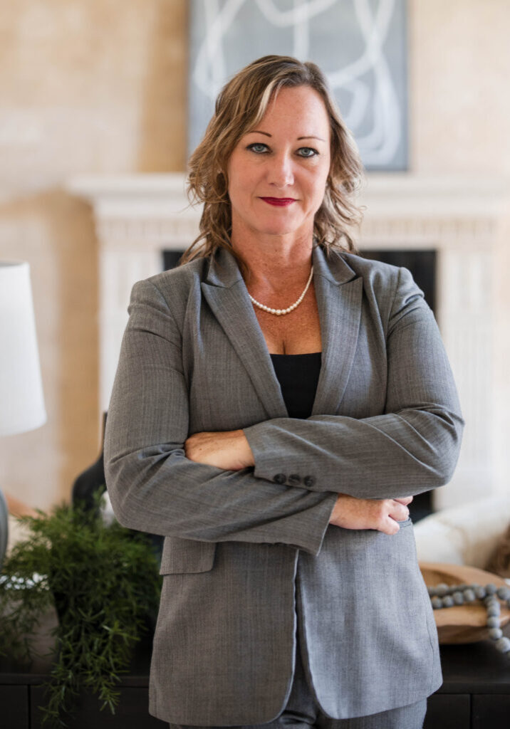
{"label": "pale beige wall section to the right of the abstract painting", "polygon": [[409,2],[411,168],[510,175],[510,3]]}

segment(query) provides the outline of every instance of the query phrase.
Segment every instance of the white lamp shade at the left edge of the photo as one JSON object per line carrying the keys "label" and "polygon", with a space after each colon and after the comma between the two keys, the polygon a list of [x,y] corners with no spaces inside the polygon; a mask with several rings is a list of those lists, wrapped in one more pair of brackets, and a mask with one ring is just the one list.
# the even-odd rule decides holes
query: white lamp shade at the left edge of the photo
{"label": "white lamp shade at the left edge of the photo", "polygon": [[30,266],[0,261],[0,435],[45,422]]}

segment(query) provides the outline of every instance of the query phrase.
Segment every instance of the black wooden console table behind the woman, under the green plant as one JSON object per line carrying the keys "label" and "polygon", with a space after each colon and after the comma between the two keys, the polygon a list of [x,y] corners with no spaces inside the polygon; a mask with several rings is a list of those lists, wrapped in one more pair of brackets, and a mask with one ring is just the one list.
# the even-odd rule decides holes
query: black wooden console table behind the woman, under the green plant
{"label": "black wooden console table behind the woman, under the green plant", "polygon": [[[488,641],[441,647],[444,684],[428,700],[424,729],[508,729],[510,726],[510,657]],[[72,729],[168,729],[151,717],[148,704],[149,651],[139,650],[120,683],[120,705],[114,716],[100,712],[93,696],[83,696]],[[0,726],[41,729],[37,706],[47,666],[31,671],[0,660]]]}

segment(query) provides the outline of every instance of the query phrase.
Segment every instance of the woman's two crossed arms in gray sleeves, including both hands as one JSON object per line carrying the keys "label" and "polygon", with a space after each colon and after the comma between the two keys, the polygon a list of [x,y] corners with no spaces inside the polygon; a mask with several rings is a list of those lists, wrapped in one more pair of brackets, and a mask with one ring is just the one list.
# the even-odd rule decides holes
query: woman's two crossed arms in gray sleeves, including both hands
{"label": "woman's two crossed arms in gray sleeves, including both hands", "polygon": [[[395,296],[382,415],[276,418],[242,436],[189,437],[179,326],[155,284],[135,284],[104,446],[120,523],[185,539],[278,542],[312,554],[329,523],[398,531],[409,496],[449,480],[463,426],[441,338],[416,291],[408,280]],[[306,473],[310,463],[320,469],[311,486],[274,483],[277,470]]]}

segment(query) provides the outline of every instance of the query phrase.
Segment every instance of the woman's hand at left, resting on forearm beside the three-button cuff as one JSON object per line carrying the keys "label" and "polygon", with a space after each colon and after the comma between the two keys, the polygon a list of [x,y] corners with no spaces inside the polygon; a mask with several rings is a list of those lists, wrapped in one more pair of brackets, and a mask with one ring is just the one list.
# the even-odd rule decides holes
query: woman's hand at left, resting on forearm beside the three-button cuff
{"label": "woman's hand at left, resting on forearm beside the three-button cuff", "polygon": [[255,466],[252,449],[242,430],[201,432],[185,441],[186,458],[225,471]]}

